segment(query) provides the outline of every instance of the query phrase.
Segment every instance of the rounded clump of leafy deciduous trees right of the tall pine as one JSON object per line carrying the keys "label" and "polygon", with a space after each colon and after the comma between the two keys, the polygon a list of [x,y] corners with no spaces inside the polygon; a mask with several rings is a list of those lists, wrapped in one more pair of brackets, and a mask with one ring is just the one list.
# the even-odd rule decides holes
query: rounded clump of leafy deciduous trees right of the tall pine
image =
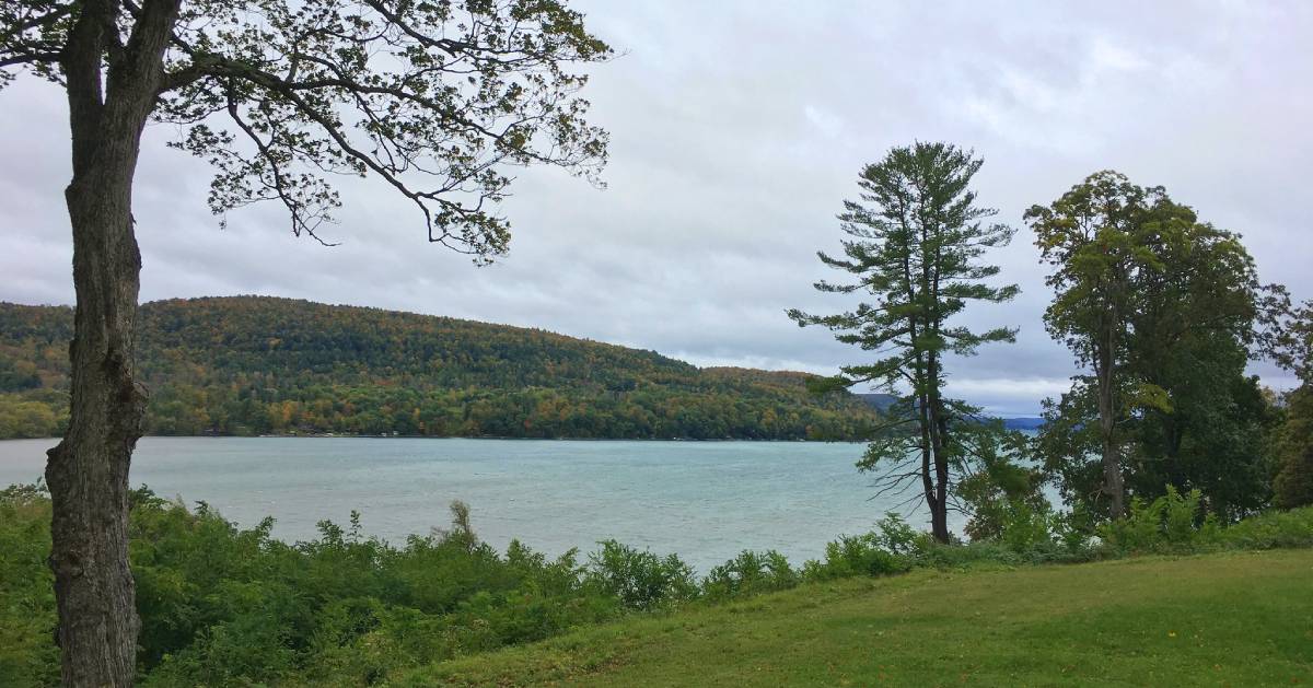
{"label": "rounded clump of leafy deciduous trees right of the tall pine", "polygon": [[1167,484],[1224,516],[1266,504],[1275,416],[1245,374],[1266,291],[1239,238],[1116,172],[1025,217],[1054,268],[1045,324],[1092,372],[1039,442],[1066,496],[1112,517]]}

